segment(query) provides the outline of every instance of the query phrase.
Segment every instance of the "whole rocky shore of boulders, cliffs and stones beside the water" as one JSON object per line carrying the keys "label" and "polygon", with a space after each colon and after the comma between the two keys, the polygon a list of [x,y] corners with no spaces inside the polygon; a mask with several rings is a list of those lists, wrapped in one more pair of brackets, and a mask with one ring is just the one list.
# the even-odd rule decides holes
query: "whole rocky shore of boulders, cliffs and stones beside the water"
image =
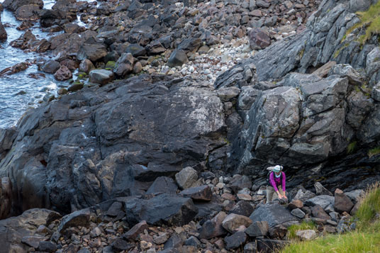
{"label": "whole rocky shore of boulders, cliffs and stones beside the water", "polygon": [[[319,4],[4,1],[52,33],[12,46],[68,81],[0,129],[0,252],[272,252],[302,221],[302,240],[354,230],[380,179],[380,50],[350,28],[375,3]],[[265,199],[273,164],[289,204]]]}

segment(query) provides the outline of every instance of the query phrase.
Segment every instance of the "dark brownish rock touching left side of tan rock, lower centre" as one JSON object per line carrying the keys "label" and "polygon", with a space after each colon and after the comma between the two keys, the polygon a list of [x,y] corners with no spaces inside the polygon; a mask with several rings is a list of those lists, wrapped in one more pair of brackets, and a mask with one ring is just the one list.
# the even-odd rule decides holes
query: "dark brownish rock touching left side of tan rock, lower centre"
{"label": "dark brownish rock touching left side of tan rock, lower centre", "polygon": [[227,217],[224,212],[218,213],[211,220],[207,220],[203,223],[201,230],[199,231],[199,238],[209,240],[214,237],[220,237],[227,234],[227,230],[224,229],[222,223]]}

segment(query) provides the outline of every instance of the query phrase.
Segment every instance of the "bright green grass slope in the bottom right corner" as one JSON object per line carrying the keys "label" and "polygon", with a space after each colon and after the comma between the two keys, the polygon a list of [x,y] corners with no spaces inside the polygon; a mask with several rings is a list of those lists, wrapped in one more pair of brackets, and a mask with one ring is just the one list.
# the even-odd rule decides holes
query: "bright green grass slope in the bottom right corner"
{"label": "bright green grass slope in the bottom right corner", "polygon": [[380,253],[380,184],[369,187],[354,218],[357,230],[326,235],[309,242],[295,242],[281,252],[373,252]]}

